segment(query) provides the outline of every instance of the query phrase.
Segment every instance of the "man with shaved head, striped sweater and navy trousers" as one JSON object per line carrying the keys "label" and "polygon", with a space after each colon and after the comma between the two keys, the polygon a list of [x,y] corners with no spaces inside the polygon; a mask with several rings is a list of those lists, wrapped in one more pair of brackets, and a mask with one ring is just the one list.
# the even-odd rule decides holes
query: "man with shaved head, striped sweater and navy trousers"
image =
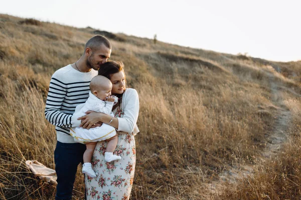
{"label": "man with shaved head, striped sweater and navy trousers", "polygon": [[[111,55],[111,43],[101,35],[90,38],[83,55],[73,64],[54,72],[46,101],[45,117],[56,126],[57,145],[54,151],[57,173],[56,199],[71,199],[77,166],[83,160],[84,144],[75,143],[70,127],[80,125],[73,117],[76,105],[89,97],[90,80],[100,65]],[[96,124],[97,125],[97,124]],[[92,126],[93,127],[93,126]],[[95,126],[94,126],[95,127]]]}

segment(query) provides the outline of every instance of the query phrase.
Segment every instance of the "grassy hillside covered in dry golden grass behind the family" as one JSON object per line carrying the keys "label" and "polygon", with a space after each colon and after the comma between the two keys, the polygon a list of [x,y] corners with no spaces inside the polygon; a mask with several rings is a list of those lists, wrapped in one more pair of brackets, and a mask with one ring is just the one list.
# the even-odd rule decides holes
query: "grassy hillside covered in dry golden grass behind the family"
{"label": "grassy hillside covered in dry golden grass behind the family", "polygon": [[[44,116],[50,77],[75,62],[94,34],[110,39],[111,59],[123,61],[127,84],[140,98],[131,199],[301,196],[301,61],[0,14],[1,198],[54,198],[55,186],[35,177],[25,160],[54,168],[56,133]],[[83,199],[80,171],[74,199]]]}

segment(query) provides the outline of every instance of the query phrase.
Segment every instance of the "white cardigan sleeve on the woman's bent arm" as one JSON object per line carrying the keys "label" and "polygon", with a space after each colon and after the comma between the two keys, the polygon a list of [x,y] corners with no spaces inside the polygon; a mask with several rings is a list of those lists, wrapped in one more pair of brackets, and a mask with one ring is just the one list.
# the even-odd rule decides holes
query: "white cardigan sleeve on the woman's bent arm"
{"label": "white cardigan sleeve on the woman's bent arm", "polygon": [[139,97],[135,89],[128,88],[124,95],[123,117],[118,118],[118,131],[132,132],[137,123],[139,114]]}

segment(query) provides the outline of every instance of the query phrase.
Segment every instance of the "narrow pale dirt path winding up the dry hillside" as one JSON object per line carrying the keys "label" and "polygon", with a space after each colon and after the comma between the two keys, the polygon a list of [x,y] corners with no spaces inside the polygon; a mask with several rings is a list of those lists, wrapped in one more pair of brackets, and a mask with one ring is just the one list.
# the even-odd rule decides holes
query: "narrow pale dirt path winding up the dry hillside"
{"label": "narrow pale dirt path winding up the dry hillside", "polygon": [[[261,156],[259,155],[256,157],[256,160],[260,162],[264,162],[265,160],[279,153],[281,145],[287,138],[286,130],[291,118],[291,113],[283,103],[282,92],[280,91],[281,88],[283,88],[283,85],[275,80],[275,76],[272,73],[266,73],[269,77],[269,84],[272,92],[272,102],[274,105],[273,108],[277,114],[272,133],[266,138],[265,149],[261,152]],[[221,173],[219,175],[219,180],[208,184],[208,190],[211,192],[210,198],[218,198],[217,194],[223,187],[226,186],[225,182],[233,183],[247,175],[252,175],[254,167],[256,167],[256,164],[238,165]]]}

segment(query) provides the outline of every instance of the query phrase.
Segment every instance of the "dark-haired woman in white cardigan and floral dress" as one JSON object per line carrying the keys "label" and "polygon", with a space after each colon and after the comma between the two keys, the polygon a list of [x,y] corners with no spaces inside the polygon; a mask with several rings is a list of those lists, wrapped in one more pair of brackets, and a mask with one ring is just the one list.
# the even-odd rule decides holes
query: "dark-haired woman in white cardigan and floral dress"
{"label": "dark-haired woman in white cardigan and floral dress", "polygon": [[117,129],[118,144],[114,154],[121,159],[112,162],[104,160],[106,141],[97,143],[92,166],[98,172],[96,178],[86,176],[87,199],[129,199],[134,178],[136,155],[134,135],[139,132],[136,125],[139,113],[139,98],[137,91],[125,87],[123,63],[108,61],[101,65],[98,75],[109,78],[113,84],[112,95],[118,97],[113,106],[114,117],[93,111],[79,118],[83,128],[90,128],[97,122],[110,124]]}

